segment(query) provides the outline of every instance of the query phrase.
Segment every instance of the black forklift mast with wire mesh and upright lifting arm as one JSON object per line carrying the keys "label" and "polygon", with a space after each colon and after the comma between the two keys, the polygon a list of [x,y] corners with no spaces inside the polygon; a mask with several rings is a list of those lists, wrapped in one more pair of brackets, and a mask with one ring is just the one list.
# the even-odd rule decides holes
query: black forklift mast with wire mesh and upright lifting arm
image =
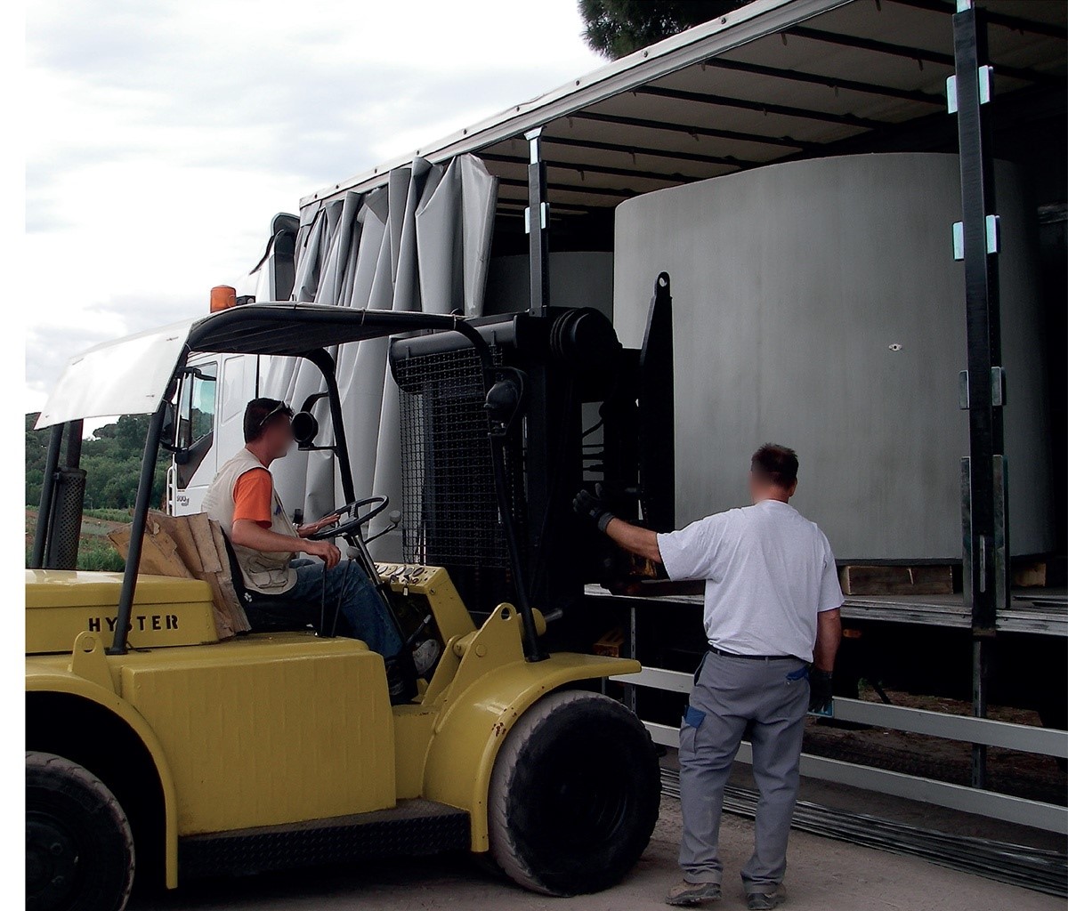
{"label": "black forklift mast with wire mesh and upright lifting arm", "polygon": [[[599,484],[619,517],[674,527],[669,277],[656,279],[641,349],[624,348],[588,308],[470,324],[520,390],[503,461],[531,603],[552,612],[577,603],[587,582],[617,587],[633,567],[571,500]],[[457,333],[437,333],[395,340],[390,364],[400,389],[405,560],[444,566],[469,607],[488,613],[515,591],[491,447],[477,430],[486,420],[477,355]],[[596,415],[588,426],[584,412]]]}

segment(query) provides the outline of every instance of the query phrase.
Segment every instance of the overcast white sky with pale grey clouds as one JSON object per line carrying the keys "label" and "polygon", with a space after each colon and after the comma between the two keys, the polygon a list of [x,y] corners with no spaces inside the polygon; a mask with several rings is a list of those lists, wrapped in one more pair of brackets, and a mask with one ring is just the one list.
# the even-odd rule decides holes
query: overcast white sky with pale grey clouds
{"label": "overcast white sky with pale grey clouds", "polygon": [[25,410],[67,358],[207,312],[271,216],[604,61],[577,0],[35,0]]}

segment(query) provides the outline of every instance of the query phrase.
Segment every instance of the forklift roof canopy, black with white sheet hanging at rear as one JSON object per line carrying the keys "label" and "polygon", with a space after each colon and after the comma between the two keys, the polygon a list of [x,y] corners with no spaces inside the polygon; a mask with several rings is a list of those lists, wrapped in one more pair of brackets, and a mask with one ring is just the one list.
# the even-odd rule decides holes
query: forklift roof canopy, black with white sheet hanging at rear
{"label": "forklift roof canopy, black with white sheet hanging at rear", "polygon": [[400,332],[457,329],[458,316],[352,310],[312,303],[250,303],[106,342],[70,359],[37,429],[84,418],[151,414],[185,354],[304,355]]}

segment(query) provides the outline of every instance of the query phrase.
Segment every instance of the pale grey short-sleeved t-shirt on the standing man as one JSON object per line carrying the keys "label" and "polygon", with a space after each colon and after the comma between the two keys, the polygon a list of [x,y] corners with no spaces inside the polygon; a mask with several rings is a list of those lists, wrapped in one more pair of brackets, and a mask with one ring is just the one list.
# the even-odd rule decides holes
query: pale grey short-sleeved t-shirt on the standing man
{"label": "pale grey short-sleeved t-shirt on the standing man", "polygon": [[657,543],[672,579],[705,580],[705,632],[724,651],[812,661],[817,613],[844,601],[827,536],[779,500],[717,513]]}

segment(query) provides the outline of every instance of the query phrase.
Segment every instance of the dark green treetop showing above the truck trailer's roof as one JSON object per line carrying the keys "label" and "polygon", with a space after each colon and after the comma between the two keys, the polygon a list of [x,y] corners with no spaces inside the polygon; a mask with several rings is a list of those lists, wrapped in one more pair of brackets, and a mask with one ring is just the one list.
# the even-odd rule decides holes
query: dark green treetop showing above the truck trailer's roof
{"label": "dark green treetop showing above the truck trailer's roof", "polygon": [[582,37],[612,60],[693,26],[724,16],[751,0],[579,0]]}

